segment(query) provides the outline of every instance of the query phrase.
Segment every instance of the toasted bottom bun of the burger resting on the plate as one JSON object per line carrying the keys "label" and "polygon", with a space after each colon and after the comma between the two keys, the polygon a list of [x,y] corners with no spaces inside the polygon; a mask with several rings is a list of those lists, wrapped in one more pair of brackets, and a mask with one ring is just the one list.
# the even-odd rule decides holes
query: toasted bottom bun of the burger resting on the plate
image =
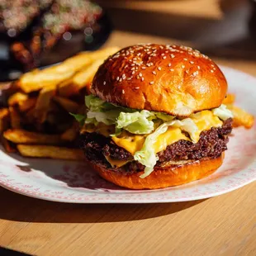
{"label": "toasted bottom bun of the burger resting on the plate", "polygon": [[224,153],[217,159],[197,160],[187,164],[169,165],[163,168],[154,168],[146,178],[140,178],[140,173],[121,173],[109,170],[97,164],[92,164],[92,168],[99,173],[102,178],[120,187],[131,189],[156,189],[164,187],[178,186],[190,183],[197,179],[205,178],[214,173],[220,167],[224,159]]}

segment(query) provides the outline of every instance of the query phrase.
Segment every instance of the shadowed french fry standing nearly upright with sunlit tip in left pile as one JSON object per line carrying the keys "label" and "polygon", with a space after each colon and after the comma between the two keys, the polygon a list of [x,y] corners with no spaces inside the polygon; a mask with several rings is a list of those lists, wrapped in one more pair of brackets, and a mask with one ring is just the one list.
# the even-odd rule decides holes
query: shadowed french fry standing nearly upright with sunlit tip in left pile
{"label": "shadowed french fry standing nearly upright with sunlit tip in left pile", "polygon": [[47,88],[43,88],[39,93],[39,97],[36,101],[34,116],[40,124],[45,122],[47,118],[47,114],[50,109],[50,102],[52,97],[55,96],[55,93],[56,87],[54,84]]}

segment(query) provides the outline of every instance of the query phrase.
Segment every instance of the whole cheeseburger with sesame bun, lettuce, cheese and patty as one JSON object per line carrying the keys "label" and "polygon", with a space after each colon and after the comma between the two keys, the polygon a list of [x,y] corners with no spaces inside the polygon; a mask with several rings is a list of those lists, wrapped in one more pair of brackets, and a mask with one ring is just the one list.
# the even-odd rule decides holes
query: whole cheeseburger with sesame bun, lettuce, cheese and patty
{"label": "whole cheeseburger with sesame bun, lettuce, cheese and patty", "polygon": [[156,189],[204,178],[223,162],[232,113],[227,82],[197,50],[133,45],[92,81],[81,122],[88,163],[121,187]]}

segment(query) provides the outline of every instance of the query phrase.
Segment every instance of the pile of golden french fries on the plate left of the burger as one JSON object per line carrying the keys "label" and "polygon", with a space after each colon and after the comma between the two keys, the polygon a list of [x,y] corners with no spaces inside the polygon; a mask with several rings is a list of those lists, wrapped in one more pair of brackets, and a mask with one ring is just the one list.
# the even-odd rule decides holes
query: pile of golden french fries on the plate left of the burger
{"label": "pile of golden french fries on the plate left of the burger", "polygon": [[47,69],[35,69],[5,89],[0,140],[8,153],[26,157],[83,160],[78,124],[69,113],[84,111],[84,96],[111,47],[82,52]]}

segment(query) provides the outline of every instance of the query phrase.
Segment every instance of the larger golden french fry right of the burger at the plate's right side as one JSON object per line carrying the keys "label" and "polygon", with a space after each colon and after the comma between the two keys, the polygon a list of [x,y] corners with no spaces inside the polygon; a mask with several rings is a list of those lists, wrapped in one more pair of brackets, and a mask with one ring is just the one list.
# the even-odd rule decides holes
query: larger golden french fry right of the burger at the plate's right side
{"label": "larger golden french fry right of the burger at the plate's right side", "polygon": [[234,127],[244,126],[246,129],[249,129],[254,126],[254,116],[250,115],[247,111],[234,105],[227,105],[227,107],[234,115]]}

